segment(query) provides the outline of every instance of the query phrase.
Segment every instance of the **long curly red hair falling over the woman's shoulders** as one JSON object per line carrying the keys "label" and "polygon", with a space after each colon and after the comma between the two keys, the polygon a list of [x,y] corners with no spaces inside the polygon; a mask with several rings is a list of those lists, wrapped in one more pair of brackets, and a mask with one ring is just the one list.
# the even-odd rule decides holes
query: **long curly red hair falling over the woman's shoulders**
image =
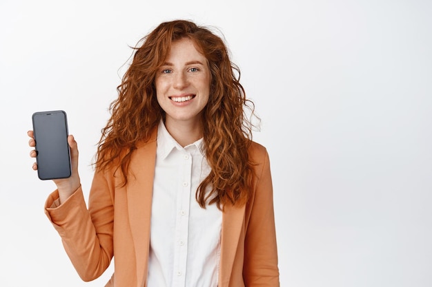
{"label": "long curly red hair falling over the woman's shoulders", "polygon": [[165,116],[157,103],[156,72],[164,64],[171,43],[183,38],[193,40],[206,56],[211,74],[210,98],[202,112],[211,171],[197,189],[197,202],[203,208],[215,203],[219,209],[224,204],[245,204],[253,178],[248,156],[253,124],[246,109],[253,116],[254,105],[246,99],[239,68],[230,61],[224,41],[191,21],[161,23],[134,48],[132,63],[117,87],[119,96],[110,104],[111,117],[102,129],[96,165],[106,169],[117,162],[127,183],[128,164],[137,142],[148,140]]}

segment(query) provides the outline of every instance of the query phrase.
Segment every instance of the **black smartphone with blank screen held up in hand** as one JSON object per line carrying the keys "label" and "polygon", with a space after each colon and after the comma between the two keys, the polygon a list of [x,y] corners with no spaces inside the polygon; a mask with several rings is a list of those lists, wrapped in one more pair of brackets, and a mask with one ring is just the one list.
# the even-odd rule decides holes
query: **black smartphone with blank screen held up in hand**
{"label": "black smartphone with blank screen held up in hand", "polygon": [[37,111],[32,115],[37,175],[41,180],[69,178],[70,149],[65,111]]}

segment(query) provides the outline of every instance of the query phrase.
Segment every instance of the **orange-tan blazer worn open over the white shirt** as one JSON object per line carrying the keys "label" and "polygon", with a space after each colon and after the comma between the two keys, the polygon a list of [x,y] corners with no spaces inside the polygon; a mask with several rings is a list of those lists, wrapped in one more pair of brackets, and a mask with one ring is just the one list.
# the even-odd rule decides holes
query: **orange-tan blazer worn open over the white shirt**
{"label": "orange-tan blazer worn open over the white shirt", "polygon": [[[96,171],[88,209],[81,187],[61,205],[57,191],[46,201],[46,215],[84,281],[104,273],[114,256],[115,274],[106,286],[146,286],[156,136],[134,152],[126,187],[112,167]],[[249,152],[256,163],[254,188],[246,206],[225,206],[219,287],[279,286],[268,153],[255,142]]]}

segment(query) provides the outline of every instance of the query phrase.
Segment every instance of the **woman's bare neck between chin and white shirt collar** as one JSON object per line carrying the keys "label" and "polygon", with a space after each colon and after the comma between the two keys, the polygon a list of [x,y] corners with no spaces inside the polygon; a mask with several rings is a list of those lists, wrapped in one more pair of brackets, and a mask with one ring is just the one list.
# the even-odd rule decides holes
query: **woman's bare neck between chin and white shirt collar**
{"label": "woman's bare neck between chin and white shirt collar", "polygon": [[202,138],[203,131],[201,121],[190,123],[188,121],[173,121],[167,118],[165,127],[181,147],[186,147],[186,145],[190,145]]}

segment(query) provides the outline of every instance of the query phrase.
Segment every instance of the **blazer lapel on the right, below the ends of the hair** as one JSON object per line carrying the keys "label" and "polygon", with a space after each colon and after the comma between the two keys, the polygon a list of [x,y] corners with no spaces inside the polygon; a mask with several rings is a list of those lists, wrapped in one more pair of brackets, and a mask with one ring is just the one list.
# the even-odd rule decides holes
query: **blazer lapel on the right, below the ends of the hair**
{"label": "blazer lapel on the right, below the ends of the hair", "polygon": [[222,213],[221,262],[219,266],[219,286],[228,286],[239,238],[244,224],[246,207],[225,206]]}

